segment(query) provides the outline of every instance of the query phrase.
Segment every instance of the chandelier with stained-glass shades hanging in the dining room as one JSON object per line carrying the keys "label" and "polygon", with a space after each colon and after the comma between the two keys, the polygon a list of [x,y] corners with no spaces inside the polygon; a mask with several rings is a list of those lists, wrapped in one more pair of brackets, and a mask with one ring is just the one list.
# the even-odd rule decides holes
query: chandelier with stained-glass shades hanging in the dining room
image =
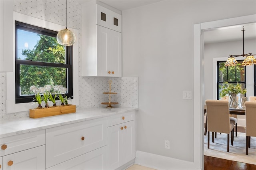
{"label": "chandelier with stained-glass shades hanging in the dining room", "polygon": [[235,66],[236,64],[238,64],[238,62],[236,61],[235,57],[246,57],[244,59],[244,61],[242,62],[242,66],[247,66],[247,65],[252,65],[252,64],[256,64],[256,59],[254,58],[254,55],[256,54],[252,54],[252,53],[248,53],[248,54],[244,54],[244,27],[243,30],[241,30],[243,32],[243,54],[242,55],[230,55],[230,57],[228,57],[228,60],[225,63],[225,66]]}

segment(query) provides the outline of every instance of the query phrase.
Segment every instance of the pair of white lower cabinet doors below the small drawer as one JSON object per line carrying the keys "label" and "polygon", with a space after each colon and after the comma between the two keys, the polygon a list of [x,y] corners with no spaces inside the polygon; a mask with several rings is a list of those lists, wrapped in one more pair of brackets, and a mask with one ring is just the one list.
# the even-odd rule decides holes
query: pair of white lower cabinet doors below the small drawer
{"label": "pair of white lower cabinet doors below the small drawer", "polygon": [[134,128],[134,121],[108,127],[108,170],[114,170],[135,158]]}

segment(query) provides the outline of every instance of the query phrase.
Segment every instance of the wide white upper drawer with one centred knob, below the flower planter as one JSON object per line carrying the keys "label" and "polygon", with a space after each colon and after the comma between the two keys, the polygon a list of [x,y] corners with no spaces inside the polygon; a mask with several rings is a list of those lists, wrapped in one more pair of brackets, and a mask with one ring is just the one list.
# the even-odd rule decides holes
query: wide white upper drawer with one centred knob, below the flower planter
{"label": "wide white upper drawer with one centred knob, below the flower planter", "polygon": [[46,168],[107,143],[106,118],[46,129]]}

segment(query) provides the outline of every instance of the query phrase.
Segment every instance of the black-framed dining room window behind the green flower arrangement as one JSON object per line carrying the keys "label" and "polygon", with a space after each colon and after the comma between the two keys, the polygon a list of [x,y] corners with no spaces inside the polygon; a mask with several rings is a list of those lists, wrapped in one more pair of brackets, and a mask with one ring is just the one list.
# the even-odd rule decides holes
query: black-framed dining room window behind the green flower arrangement
{"label": "black-framed dining room window behind the green flower arrangement", "polygon": [[241,84],[246,88],[246,67],[242,66],[243,60],[238,60],[236,66],[225,66],[226,61],[217,61],[217,99],[220,99],[221,87],[224,82],[229,84]]}

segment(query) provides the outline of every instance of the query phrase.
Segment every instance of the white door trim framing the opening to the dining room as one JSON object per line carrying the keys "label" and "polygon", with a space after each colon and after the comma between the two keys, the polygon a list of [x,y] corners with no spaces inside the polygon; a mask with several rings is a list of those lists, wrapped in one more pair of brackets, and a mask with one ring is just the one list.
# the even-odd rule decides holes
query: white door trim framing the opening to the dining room
{"label": "white door trim framing the opening to the dining room", "polygon": [[[198,162],[200,160],[201,169],[204,169],[204,142],[202,140],[203,137],[203,128],[199,129],[198,127],[198,120],[201,121],[199,125],[203,125],[204,119],[196,119],[203,117],[203,105],[204,101],[202,101],[202,93],[204,91],[201,90],[201,86],[204,85],[204,81],[201,81],[201,78],[198,75],[201,75],[201,70],[204,68],[202,61],[204,59],[204,52],[201,51],[201,45],[204,44],[204,40],[201,41],[201,35],[199,32],[206,30],[206,29],[213,29],[213,28],[219,28],[219,27],[225,27],[225,26],[234,26],[234,25],[240,25],[240,24],[248,24],[256,22],[256,14],[249,15],[249,16],[242,16],[242,17],[236,17],[236,18],[230,18],[225,20],[218,20],[213,22],[204,22],[201,24],[195,24],[194,25],[194,162],[195,165],[198,165]],[[202,75],[201,75],[202,76]],[[198,138],[198,136],[200,137]],[[197,144],[200,144],[200,150],[201,155],[196,155],[196,149],[198,149]]]}

